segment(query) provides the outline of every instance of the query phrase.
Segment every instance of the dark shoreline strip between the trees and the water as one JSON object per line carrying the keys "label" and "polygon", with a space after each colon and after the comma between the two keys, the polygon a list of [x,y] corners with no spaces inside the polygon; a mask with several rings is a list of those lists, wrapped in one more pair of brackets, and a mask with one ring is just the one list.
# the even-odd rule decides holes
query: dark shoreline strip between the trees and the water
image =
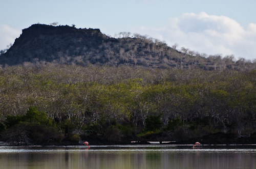
{"label": "dark shoreline strip between the trees and the water", "polygon": [[89,142],[89,145],[193,145],[200,142],[201,145],[253,145],[256,144],[256,134],[250,136],[237,137],[231,133],[215,133],[202,137],[194,137],[188,140],[175,141],[169,138],[151,135],[150,137],[122,137],[119,141],[110,141],[103,135],[81,135],[81,140],[71,141],[68,138],[63,138],[61,142],[51,140],[37,144],[10,144],[1,142],[0,146],[78,146],[83,145],[83,142]]}

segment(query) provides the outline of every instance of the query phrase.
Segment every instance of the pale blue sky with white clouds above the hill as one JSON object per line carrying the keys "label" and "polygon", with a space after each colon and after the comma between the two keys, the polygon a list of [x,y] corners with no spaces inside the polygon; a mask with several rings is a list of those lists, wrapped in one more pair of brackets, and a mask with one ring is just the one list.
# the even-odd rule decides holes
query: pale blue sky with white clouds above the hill
{"label": "pale blue sky with white clouds above the hill", "polygon": [[58,22],[256,61],[255,0],[0,0],[0,6],[0,50],[32,24]]}

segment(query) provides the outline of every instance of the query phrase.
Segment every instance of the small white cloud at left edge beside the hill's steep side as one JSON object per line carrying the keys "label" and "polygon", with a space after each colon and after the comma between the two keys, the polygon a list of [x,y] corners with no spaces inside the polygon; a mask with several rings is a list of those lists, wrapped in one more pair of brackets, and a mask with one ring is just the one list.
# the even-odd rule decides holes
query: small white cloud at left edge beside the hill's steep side
{"label": "small white cloud at left edge beside the hill's steep side", "polygon": [[10,43],[13,44],[20,34],[20,30],[15,30],[6,24],[0,24],[0,50],[6,49]]}

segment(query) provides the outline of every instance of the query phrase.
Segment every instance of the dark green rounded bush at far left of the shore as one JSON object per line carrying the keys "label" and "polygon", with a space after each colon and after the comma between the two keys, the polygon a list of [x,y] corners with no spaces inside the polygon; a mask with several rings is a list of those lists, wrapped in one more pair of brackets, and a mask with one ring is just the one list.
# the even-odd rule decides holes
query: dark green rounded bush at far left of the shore
{"label": "dark green rounded bush at far left of the shore", "polygon": [[61,140],[57,128],[52,126],[51,120],[45,112],[38,111],[37,107],[29,107],[26,115],[8,115],[4,121],[6,130],[4,139],[12,143],[24,142],[28,145],[42,143],[45,140]]}

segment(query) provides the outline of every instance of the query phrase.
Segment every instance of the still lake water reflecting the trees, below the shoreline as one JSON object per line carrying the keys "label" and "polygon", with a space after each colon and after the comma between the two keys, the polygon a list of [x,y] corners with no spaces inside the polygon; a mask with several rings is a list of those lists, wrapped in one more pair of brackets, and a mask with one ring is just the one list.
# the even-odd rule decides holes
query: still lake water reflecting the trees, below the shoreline
{"label": "still lake water reflecting the trees, below the shoreline", "polygon": [[256,168],[256,146],[0,147],[0,169]]}

